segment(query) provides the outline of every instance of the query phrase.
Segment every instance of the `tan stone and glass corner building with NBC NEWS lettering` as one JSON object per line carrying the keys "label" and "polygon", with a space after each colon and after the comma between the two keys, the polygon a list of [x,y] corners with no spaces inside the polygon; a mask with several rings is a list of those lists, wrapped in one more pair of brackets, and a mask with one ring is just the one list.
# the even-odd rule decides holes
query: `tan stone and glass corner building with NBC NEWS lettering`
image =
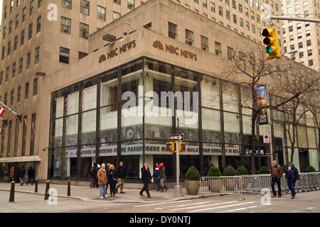
{"label": "tan stone and glass corner building with NBC NEWS lettering", "polygon": [[[185,4],[147,1],[135,8],[92,33],[86,41],[85,57],[78,55],[75,60],[71,54],[60,52],[59,61],[68,60],[69,64],[60,62],[58,65],[63,67],[53,71],[35,69],[34,73],[46,75],[36,77],[41,84],[33,96],[36,116],[27,118],[31,126],[36,122],[34,136],[28,135],[28,126],[26,134],[23,130],[18,135],[13,133],[18,131],[14,123],[24,129],[24,121],[13,118],[11,127],[10,123],[4,127],[0,160],[4,170],[11,161],[25,158],[37,163],[38,179],[81,181],[90,179],[87,172],[93,162],[117,165],[123,160],[128,178],[135,181],[143,162],[153,168],[161,161],[165,162],[169,179],[174,179],[176,155],[166,152],[165,145],[169,135],[176,133],[183,134],[186,143],[186,153],[181,154],[181,175],[191,165],[202,172],[210,160],[221,167],[223,156],[226,165],[237,167],[243,155],[250,170],[250,113],[239,107],[241,89],[220,72],[233,64],[234,51],[262,45],[252,40],[252,35],[242,35],[225,27],[225,23],[222,26]],[[57,21],[44,23],[48,28],[58,26],[61,38],[53,43],[65,40],[65,26]],[[114,40],[103,40],[105,35]],[[53,37],[53,29],[48,29],[46,37]],[[70,45],[77,42],[82,48],[79,37],[75,42],[70,40]],[[60,50],[61,44],[53,46]],[[54,58],[52,47],[46,48],[45,58],[49,61]],[[47,63],[43,65],[54,65],[54,61]],[[226,85],[230,89],[222,89]],[[30,106],[24,106],[29,111]],[[302,127],[308,135],[311,133],[308,138],[319,136],[312,125]],[[265,135],[269,129],[260,126],[259,131]],[[8,142],[13,140],[10,135],[16,135],[16,142]],[[23,149],[19,148],[25,135],[34,138],[33,154],[26,151],[22,155]],[[283,165],[287,145],[281,118],[274,119],[273,135],[274,150]],[[246,142],[240,138],[246,138]],[[307,144],[308,160],[317,167],[317,145],[312,141]],[[17,155],[8,155],[8,145],[15,143]],[[268,145],[261,143],[259,150],[262,165],[270,165]],[[299,162],[297,155],[294,158]]]}

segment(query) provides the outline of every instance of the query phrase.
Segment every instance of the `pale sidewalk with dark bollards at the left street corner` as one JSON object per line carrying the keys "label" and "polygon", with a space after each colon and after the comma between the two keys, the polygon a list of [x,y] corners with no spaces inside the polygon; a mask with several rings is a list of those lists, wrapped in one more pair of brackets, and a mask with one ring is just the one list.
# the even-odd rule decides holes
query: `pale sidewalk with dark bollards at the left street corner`
{"label": "pale sidewalk with dark bollards at the left street corner", "polygon": [[[11,183],[0,182],[0,191],[10,192]],[[139,195],[139,189],[126,189],[124,184],[124,194],[116,193],[115,196],[110,196],[110,187],[107,189],[107,198],[99,199],[99,189],[91,188],[87,186],[70,186],[70,196],[68,194],[68,185],[65,184],[50,184],[50,189],[56,189],[58,197],[65,197],[70,199],[80,199],[81,201],[94,201],[94,202],[114,202],[114,203],[147,203],[147,202],[161,202],[161,201],[175,201],[181,199],[196,199],[198,195],[188,195],[185,188],[182,188],[182,196],[174,196],[174,189],[168,189],[166,192],[156,192],[150,190],[151,198]],[[26,193],[26,194],[38,194],[45,195],[46,184],[38,184],[38,192],[35,193],[35,184],[23,184],[15,183],[15,194]],[[9,197],[8,197],[9,201]]]}

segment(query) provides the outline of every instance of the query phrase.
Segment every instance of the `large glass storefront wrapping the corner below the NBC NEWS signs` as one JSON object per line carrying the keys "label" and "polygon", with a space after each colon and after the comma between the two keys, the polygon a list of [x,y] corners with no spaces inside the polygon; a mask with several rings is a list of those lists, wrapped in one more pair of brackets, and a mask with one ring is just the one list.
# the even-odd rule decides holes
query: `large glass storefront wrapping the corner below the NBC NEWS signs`
{"label": "large glass storefront wrapping the corner below the NBC NEWS signs", "polygon": [[[48,177],[89,180],[94,162],[118,166],[122,160],[128,180],[139,180],[143,162],[151,172],[164,162],[168,179],[174,179],[176,155],[166,151],[166,143],[178,133],[186,143],[181,176],[191,166],[202,173],[210,160],[219,166],[223,149],[225,163],[237,167],[241,149],[252,144],[250,111],[239,110],[240,92],[247,90],[149,58],[53,92]],[[260,135],[267,131],[262,127]],[[281,127],[274,131],[282,137]]]}

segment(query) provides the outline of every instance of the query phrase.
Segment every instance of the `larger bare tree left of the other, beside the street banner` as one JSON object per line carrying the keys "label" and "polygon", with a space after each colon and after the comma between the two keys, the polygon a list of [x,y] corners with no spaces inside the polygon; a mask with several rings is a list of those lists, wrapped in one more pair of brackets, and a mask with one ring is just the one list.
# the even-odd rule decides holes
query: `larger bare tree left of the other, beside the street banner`
{"label": "larger bare tree left of the other, beside the street banner", "polygon": [[[230,60],[230,59],[229,59]],[[222,77],[233,84],[244,87],[247,92],[241,93],[240,106],[250,109],[251,112],[251,169],[255,170],[255,149],[257,147],[256,123],[257,116],[262,109],[280,109],[280,106],[289,106],[303,99],[304,94],[316,87],[316,76],[309,77],[310,70],[306,70],[297,62],[288,60],[267,60],[263,48],[261,50],[236,51],[233,55],[233,64],[222,69]],[[269,93],[272,96],[281,96],[281,101],[271,102],[267,106],[257,104],[257,85],[266,84],[270,76]],[[319,79],[319,78],[318,78]],[[270,135],[271,136],[271,135]],[[272,157],[273,158],[273,157]]]}

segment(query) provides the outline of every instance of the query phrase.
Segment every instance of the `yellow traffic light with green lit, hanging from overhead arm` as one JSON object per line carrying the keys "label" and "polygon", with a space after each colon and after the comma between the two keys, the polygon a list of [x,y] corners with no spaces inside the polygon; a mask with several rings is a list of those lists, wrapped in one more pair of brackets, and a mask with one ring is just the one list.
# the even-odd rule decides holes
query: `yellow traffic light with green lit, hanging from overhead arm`
{"label": "yellow traffic light with green lit, hanging from overhead arm", "polygon": [[265,36],[263,43],[266,45],[265,52],[267,53],[267,59],[270,60],[274,57],[281,57],[277,32],[274,31],[274,28],[268,26],[267,28],[263,29],[262,35]]}

